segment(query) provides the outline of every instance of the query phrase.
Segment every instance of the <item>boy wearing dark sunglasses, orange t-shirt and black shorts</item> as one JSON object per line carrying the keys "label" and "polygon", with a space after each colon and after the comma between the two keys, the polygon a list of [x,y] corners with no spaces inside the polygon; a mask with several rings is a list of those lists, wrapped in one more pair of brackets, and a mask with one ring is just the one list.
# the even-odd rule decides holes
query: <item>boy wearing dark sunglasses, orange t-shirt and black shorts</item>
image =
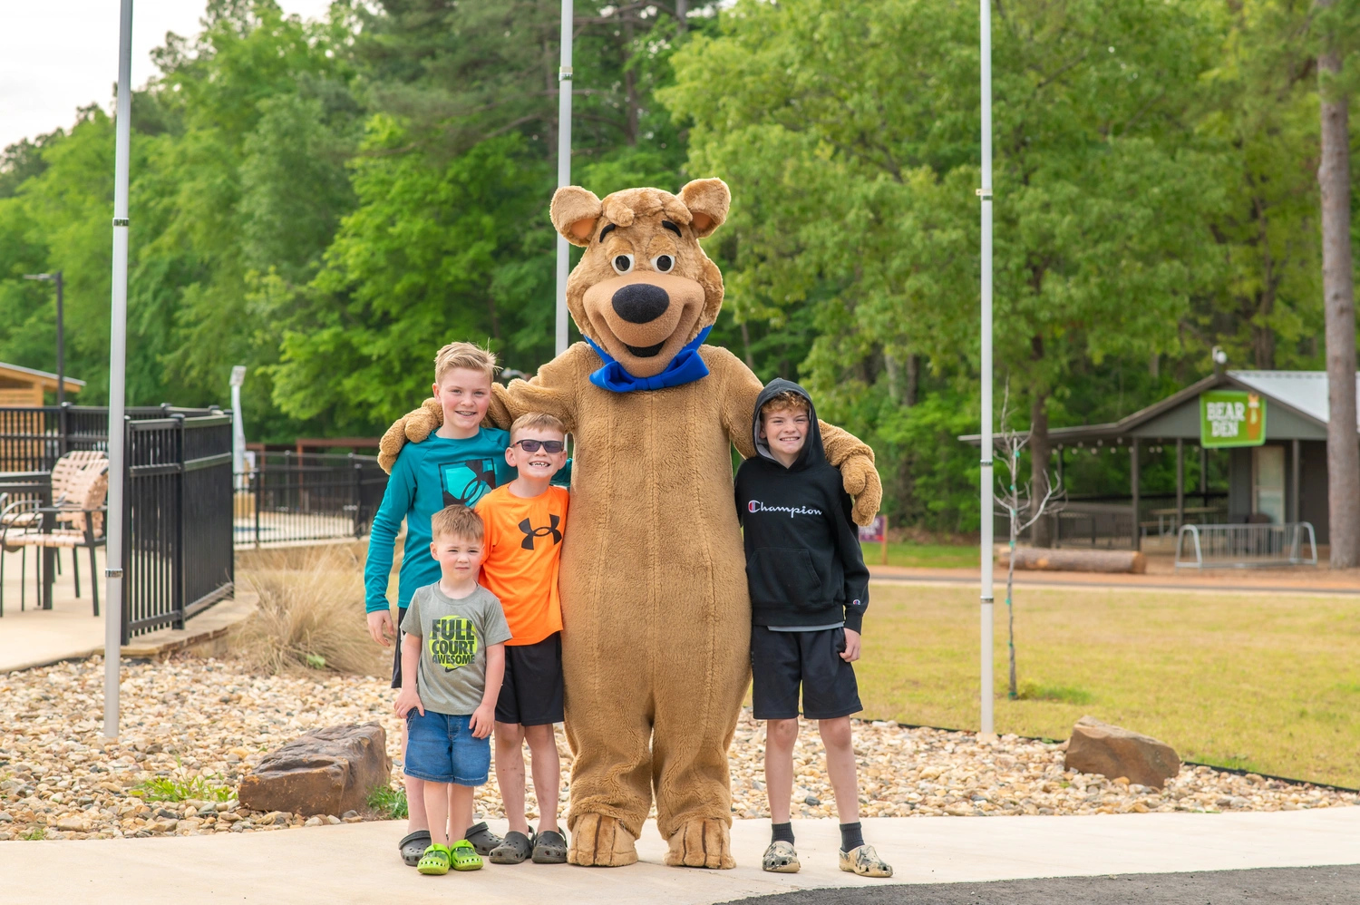
{"label": "boy wearing dark sunglasses, orange t-shirt and black shorts", "polygon": [[[567,490],[552,476],[566,461],[566,429],[530,412],[510,426],[506,463],[515,479],[477,501],[486,523],[481,584],[500,599],[510,634],[496,701],[496,784],[510,832],[491,851],[495,864],[563,864],[567,841],[558,827],[562,765],[554,724],[562,723],[562,602],[558,563],[567,528]],[[524,743],[529,743],[539,829],[525,819]]]}

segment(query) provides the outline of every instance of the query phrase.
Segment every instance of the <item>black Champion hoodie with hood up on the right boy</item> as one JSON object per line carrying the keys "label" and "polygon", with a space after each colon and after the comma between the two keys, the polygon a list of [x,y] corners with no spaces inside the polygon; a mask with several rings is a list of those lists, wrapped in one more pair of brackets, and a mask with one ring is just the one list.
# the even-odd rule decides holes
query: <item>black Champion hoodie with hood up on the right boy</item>
{"label": "black Champion hoodie with hood up on the right boy", "polygon": [[[808,437],[789,468],[760,440],[760,406],[792,389],[808,400]],[[737,519],[745,536],[752,623],[860,631],[869,606],[869,569],[840,472],[821,449],[812,397],[798,384],[772,380],[751,419],[758,455],[737,470]]]}

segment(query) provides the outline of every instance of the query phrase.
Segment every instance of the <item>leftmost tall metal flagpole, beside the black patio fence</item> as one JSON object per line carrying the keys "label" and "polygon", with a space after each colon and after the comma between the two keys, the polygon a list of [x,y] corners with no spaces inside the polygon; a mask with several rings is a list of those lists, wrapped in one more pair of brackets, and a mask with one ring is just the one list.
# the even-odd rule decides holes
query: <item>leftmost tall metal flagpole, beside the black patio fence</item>
{"label": "leftmost tall metal flagpole, beside the black patio fence", "polygon": [[[109,514],[105,519],[103,734],[118,736],[122,649],[122,416],[128,351],[128,152],[132,147],[132,0],[118,12],[118,106],[113,165],[113,312],[109,329]],[[91,576],[92,580],[98,580]]]}

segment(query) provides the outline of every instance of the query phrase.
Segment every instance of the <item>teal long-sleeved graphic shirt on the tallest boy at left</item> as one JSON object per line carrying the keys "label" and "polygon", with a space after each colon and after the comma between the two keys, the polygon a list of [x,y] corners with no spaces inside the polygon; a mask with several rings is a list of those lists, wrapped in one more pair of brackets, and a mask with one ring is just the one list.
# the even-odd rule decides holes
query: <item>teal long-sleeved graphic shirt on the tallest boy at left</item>
{"label": "teal long-sleeved graphic shirt on the tallest boy at left", "polygon": [[430,555],[430,519],[456,502],[476,506],[481,494],[514,480],[517,472],[506,464],[509,444],[510,431],[483,427],[466,440],[430,434],[423,442],[401,448],[369,535],[369,559],[363,566],[367,612],[388,608],[388,576],[403,519],[407,543],[397,606],[408,606],[416,588],[439,581],[439,563]]}

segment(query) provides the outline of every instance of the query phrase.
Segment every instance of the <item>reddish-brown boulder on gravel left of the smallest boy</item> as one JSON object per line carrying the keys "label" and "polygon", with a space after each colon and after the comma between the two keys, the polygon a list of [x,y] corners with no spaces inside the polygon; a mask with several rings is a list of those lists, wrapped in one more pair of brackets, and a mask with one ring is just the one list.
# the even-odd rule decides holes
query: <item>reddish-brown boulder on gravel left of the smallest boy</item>
{"label": "reddish-brown boulder on gravel left of the smallest boy", "polygon": [[344,814],[362,810],[390,776],[381,725],[330,725],[265,754],[241,780],[237,797],[253,811]]}

